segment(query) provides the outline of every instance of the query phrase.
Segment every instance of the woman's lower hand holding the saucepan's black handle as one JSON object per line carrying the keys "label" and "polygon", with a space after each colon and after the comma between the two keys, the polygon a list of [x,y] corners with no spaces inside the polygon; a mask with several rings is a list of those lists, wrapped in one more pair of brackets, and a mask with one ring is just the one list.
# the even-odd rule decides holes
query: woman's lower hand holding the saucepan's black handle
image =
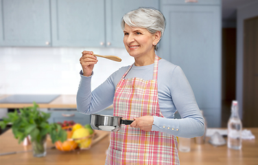
{"label": "woman's lower hand holding the saucepan's black handle", "polygon": [[142,129],[143,131],[152,131],[153,121],[152,115],[144,115],[139,118],[134,118],[134,122],[132,122],[130,126],[136,129]]}

